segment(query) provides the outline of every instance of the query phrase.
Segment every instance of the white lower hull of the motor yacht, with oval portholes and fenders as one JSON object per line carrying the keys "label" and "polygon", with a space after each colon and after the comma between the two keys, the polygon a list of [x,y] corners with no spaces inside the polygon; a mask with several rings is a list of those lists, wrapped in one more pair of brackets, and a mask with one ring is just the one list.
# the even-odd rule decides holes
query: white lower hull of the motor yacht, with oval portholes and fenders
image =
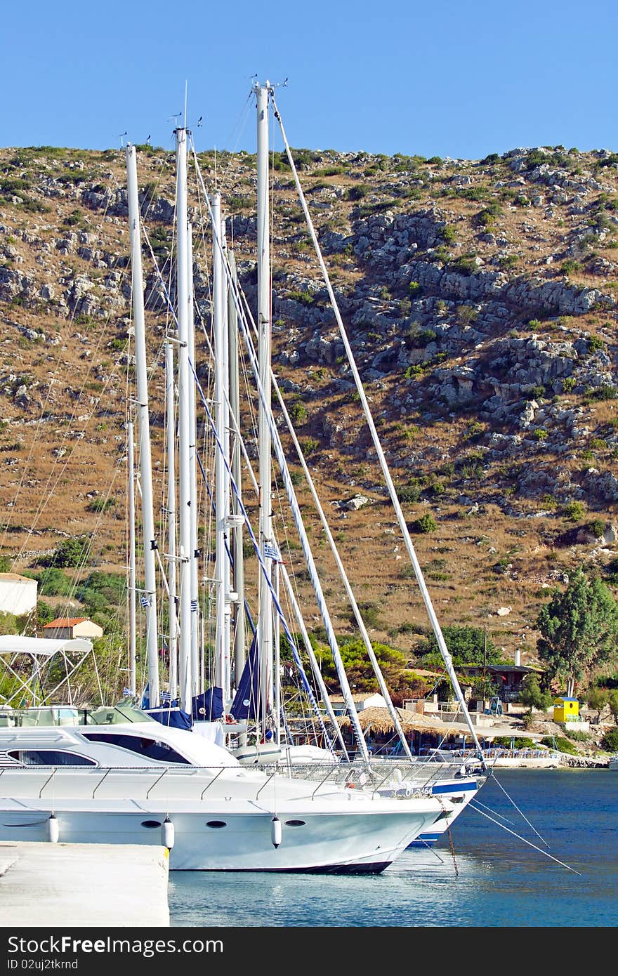
{"label": "white lower hull of the motor yacht, with oval portholes and fenders", "polygon": [[[174,826],[171,871],[274,871],[327,874],[378,874],[385,870],[436,817],[433,805],[416,808],[394,801],[391,808],[324,809],[315,812],[290,803],[279,809],[281,842],[272,842],[270,810],[237,809],[230,802],[188,808],[134,801],[102,803],[88,809],[78,801],[4,800],[0,805],[0,840],[44,841],[54,813],[62,843],[164,845],[166,817]],[[139,809],[137,807],[140,807]],[[392,808],[394,806],[394,809]],[[296,807],[296,808],[295,808]],[[398,808],[397,808],[398,807]],[[234,809],[236,808],[236,809]]]}

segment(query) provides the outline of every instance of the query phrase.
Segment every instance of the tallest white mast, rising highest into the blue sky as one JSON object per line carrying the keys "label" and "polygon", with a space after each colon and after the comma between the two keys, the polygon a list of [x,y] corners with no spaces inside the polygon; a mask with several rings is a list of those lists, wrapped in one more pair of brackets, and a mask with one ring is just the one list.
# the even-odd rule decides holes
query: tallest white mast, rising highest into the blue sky
{"label": "tallest white mast, rising highest into the blue sky", "polygon": [[[260,380],[264,397],[260,397],[258,414],[258,436],[260,447],[260,550],[265,557],[270,574],[271,562],[268,558],[268,544],[272,542],[272,519],[270,500],[271,459],[270,459],[270,239],[268,208],[268,97],[271,87],[256,84],[258,113],[258,360]],[[258,619],[258,648],[260,653],[260,674],[262,713],[267,714],[268,704],[272,703],[272,600],[266,581],[260,577],[260,615]]]}

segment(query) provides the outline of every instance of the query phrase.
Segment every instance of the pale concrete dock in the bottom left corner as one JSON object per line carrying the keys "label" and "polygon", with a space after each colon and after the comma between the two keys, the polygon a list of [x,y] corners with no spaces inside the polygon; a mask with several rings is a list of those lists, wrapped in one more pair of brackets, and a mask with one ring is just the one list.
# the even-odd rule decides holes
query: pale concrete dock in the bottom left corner
{"label": "pale concrete dock in the bottom left corner", "polygon": [[0,842],[0,925],[168,926],[168,872],[165,847]]}

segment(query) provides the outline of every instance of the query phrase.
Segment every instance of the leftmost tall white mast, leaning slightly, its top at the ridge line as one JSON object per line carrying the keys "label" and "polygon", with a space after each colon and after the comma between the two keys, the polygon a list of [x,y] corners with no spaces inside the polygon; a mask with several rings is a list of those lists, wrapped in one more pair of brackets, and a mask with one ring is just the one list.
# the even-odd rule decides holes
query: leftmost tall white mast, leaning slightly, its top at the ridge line
{"label": "leftmost tall white mast, leaning slightly, its top at the ridge line", "polygon": [[145,357],[144,279],[142,273],[142,234],[138,167],[135,146],[126,149],[127,190],[129,198],[129,233],[131,236],[131,285],[133,321],[135,328],[136,386],[140,427],[140,477],[142,485],[142,522],[144,527],[144,610],[146,622],[146,659],[148,671],[148,702],[151,708],[159,704],[159,660],[156,628],[156,593],[154,551],[154,517],[152,513],[152,468],[150,458],[150,424],[148,417],[148,387]]}

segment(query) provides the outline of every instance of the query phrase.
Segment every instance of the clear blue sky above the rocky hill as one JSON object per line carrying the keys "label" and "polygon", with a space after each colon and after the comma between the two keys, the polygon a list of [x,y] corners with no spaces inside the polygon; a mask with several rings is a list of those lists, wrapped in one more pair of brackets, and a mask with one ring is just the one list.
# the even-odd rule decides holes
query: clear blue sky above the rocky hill
{"label": "clear blue sky above the rocky hill", "polygon": [[171,147],[186,84],[198,150],[254,151],[257,74],[288,79],[276,100],[297,148],[615,150],[617,28],[610,0],[13,0],[0,143]]}

